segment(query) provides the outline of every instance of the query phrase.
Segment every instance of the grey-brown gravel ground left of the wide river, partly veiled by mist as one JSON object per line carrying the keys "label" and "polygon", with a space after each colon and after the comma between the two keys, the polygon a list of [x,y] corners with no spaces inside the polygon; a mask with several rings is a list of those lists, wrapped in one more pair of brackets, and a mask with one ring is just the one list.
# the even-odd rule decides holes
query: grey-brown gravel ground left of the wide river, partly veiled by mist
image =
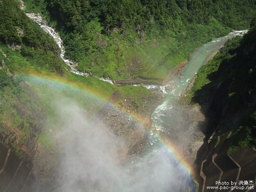
{"label": "grey-brown gravel ground left of the wide river, partly veiled by mist", "polygon": [[[100,120],[98,128],[108,132],[112,140],[120,141],[115,144],[118,151],[114,157],[119,165],[124,165],[129,159],[141,154],[148,140],[148,130],[151,128],[150,116],[154,109],[160,105],[162,93],[149,94],[147,97],[141,97],[141,105],[137,106],[132,102],[132,98],[126,97],[111,107],[111,110]],[[102,101],[95,101],[91,107],[82,111],[84,119],[88,121],[92,118],[92,111],[102,106]],[[139,116],[140,115],[140,116]],[[72,115],[70,115],[72,116]],[[65,119],[58,122],[57,126],[65,126]],[[70,128],[70,131],[72,128]],[[38,178],[37,189],[40,189],[45,182],[48,182],[52,170],[60,162],[60,155],[63,153],[64,146],[70,142],[74,133],[60,134],[58,129],[50,130],[49,137],[53,137],[55,145],[48,150],[44,143],[38,142],[33,173]],[[74,131],[76,132],[76,131]],[[78,134],[78,133],[76,133]]]}

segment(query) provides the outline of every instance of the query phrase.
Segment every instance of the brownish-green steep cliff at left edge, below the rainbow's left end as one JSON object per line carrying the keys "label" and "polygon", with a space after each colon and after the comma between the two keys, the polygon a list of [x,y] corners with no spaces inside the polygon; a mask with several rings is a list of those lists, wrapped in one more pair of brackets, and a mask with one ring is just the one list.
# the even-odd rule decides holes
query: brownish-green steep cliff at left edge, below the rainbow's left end
{"label": "brownish-green steep cliff at left edge, below the rainbow's left end", "polygon": [[23,160],[33,157],[46,111],[35,90],[21,77],[0,70],[0,142]]}

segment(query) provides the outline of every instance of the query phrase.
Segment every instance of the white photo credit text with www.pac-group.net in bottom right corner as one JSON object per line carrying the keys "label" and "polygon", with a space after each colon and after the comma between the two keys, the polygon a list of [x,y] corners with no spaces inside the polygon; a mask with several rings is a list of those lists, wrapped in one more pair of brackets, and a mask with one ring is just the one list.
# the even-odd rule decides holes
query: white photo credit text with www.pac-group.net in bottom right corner
{"label": "white photo credit text with www.pac-group.net in bottom right corner", "polygon": [[207,189],[218,189],[218,190],[221,190],[221,189],[231,189],[231,190],[234,190],[234,189],[241,189],[241,190],[244,190],[244,189],[254,189],[254,183],[252,180],[239,180],[239,182],[233,182],[233,181],[230,181],[230,182],[220,182],[220,181],[216,181],[215,182],[215,186],[206,186]]}

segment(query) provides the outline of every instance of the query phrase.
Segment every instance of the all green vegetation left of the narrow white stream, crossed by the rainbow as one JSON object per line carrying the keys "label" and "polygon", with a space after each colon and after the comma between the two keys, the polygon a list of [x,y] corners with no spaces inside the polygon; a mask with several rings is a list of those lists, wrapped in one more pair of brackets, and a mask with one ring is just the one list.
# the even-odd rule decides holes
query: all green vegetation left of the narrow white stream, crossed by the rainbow
{"label": "all green vegetation left of the narrow white stream, crossed by the rainbow", "polygon": [[[0,142],[20,157],[33,156],[38,140],[49,150],[54,146],[50,131],[58,129],[59,117],[52,101],[72,100],[84,110],[92,108],[93,115],[114,90],[121,93],[119,101],[130,98],[136,106],[141,98],[154,97],[145,87],[116,87],[71,73],[56,52],[55,41],[15,0],[1,1],[0,10]],[[96,108],[95,102],[100,102]]]}

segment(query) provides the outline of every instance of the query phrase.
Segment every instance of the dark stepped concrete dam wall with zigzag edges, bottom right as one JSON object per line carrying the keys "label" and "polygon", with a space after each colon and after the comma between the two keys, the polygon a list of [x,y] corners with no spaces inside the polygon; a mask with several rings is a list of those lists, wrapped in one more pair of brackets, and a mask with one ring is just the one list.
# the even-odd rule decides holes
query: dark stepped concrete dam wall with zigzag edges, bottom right
{"label": "dark stepped concrete dam wall with zigzag edges, bottom right", "polygon": [[[219,137],[219,141],[215,138],[199,149],[195,161],[197,166],[194,169],[195,180],[199,185],[198,192],[256,191],[255,148],[247,146],[233,154],[227,154],[236,134],[224,134]],[[210,189],[211,186],[217,189]]]}

